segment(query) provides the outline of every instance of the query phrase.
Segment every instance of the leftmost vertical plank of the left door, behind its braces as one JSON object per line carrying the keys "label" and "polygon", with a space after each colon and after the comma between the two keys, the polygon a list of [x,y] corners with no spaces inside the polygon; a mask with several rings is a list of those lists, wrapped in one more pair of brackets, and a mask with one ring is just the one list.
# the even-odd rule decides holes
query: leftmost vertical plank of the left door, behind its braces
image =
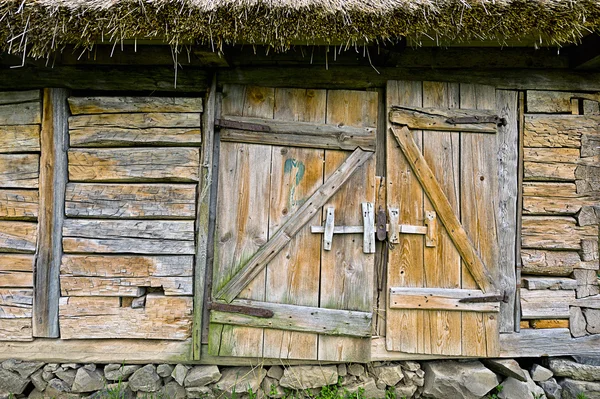
{"label": "leftmost vertical plank of the left door, behind its braces", "polygon": [[[223,92],[224,115],[273,117],[273,89],[225,86]],[[268,240],[270,173],[270,146],[221,144],[213,295]],[[238,297],[264,296],[263,271]],[[213,325],[209,349],[213,355],[261,357],[263,329]]]}

